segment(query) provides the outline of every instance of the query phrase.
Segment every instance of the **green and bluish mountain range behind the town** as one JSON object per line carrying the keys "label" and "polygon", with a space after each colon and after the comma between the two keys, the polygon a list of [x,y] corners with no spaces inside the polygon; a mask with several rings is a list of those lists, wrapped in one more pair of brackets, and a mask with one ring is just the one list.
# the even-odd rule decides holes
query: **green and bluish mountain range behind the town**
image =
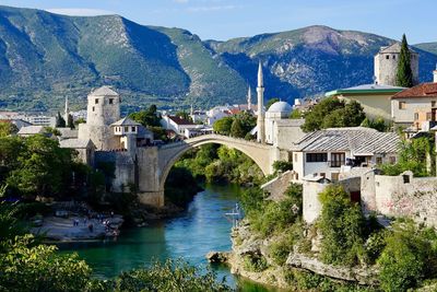
{"label": "green and bluish mountain range behind the town", "polygon": [[[123,112],[150,104],[244,103],[247,84],[256,86],[258,60],[265,96],[293,102],[371,82],[374,55],[393,42],[327,26],[202,42],[186,30],[144,26],[118,15],[0,7],[0,109],[56,112],[66,96],[79,109],[87,93],[104,84],[120,92]],[[430,80],[437,56],[416,49],[421,79]]]}

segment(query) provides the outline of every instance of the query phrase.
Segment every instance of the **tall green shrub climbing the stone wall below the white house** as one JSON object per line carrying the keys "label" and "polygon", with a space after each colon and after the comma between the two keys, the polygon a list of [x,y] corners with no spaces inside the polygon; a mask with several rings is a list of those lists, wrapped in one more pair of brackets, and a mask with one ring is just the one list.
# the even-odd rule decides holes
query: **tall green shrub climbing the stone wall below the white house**
{"label": "tall green shrub climbing the stone wall below the white house", "polygon": [[329,186],[319,195],[322,203],[318,227],[323,235],[321,260],[354,266],[363,256],[365,219],[357,203],[341,186]]}

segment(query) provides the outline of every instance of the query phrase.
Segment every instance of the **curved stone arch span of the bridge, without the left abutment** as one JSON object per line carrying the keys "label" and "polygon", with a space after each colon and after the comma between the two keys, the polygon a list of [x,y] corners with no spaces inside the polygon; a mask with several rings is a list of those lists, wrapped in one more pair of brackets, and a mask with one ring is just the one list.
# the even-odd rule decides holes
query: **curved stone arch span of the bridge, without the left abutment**
{"label": "curved stone arch span of the bridge, without the left abutment", "polygon": [[272,163],[276,155],[272,145],[260,144],[244,139],[221,135],[204,135],[181,142],[163,145],[158,150],[160,189],[164,190],[165,180],[175,163],[189,150],[203,144],[215,143],[236,149],[249,156],[264,175],[272,173]]}

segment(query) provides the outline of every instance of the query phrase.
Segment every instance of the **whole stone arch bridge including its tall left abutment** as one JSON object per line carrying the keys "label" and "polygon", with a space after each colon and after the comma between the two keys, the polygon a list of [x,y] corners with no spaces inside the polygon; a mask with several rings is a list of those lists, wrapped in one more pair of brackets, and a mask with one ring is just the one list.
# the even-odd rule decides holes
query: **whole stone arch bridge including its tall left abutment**
{"label": "whole stone arch bridge including its tall left abutment", "polygon": [[188,150],[208,143],[241,151],[253,160],[264,175],[271,174],[273,162],[280,160],[280,150],[273,145],[221,135],[203,135],[161,147],[138,149],[135,182],[140,201],[156,207],[164,206],[164,184],[173,165]]}

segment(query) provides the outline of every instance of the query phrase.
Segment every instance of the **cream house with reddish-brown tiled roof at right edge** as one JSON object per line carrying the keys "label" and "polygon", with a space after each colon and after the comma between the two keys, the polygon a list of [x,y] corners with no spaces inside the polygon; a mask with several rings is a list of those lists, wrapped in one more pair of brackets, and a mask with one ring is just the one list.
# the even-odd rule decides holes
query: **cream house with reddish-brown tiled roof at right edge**
{"label": "cream house with reddish-brown tiled roof at right edge", "polygon": [[413,126],[420,130],[429,121],[436,121],[436,110],[437,82],[421,83],[391,97],[391,115],[398,127]]}

